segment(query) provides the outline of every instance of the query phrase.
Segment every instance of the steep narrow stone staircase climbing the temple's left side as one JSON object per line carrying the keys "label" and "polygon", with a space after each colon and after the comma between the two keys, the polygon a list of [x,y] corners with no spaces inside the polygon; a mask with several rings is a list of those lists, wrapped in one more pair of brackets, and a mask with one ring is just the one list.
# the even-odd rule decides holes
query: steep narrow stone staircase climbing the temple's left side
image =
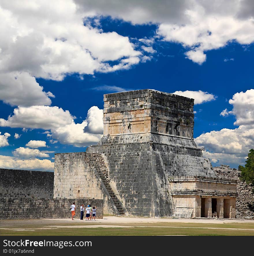
{"label": "steep narrow stone staircase climbing the temple's left side", "polygon": [[104,186],[110,198],[112,199],[112,200],[109,199],[109,201],[111,202],[111,204],[113,203],[112,206],[115,209],[116,214],[119,216],[124,216],[126,211],[124,209],[122,202],[118,200],[117,196],[115,195],[115,193],[113,192],[110,186],[108,169],[104,163],[104,159],[102,155],[91,153],[91,155],[89,154],[89,160],[90,160],[89,165],[91,166],[91,168],[93,169],[95,168],[97,170],[98,175],[100,176],[100,179],[104,183]]}

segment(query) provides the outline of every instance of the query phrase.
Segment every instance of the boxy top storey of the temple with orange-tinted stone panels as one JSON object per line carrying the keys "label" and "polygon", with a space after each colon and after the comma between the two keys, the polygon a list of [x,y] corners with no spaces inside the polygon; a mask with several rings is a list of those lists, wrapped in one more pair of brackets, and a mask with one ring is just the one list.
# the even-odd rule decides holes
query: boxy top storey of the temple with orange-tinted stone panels
{"label": "boxy top storey of the temple with orange-tinted stone panels", "polygon": [[159,132],[193,137],[194,99],[156,90],[104,95],[104,135]]}

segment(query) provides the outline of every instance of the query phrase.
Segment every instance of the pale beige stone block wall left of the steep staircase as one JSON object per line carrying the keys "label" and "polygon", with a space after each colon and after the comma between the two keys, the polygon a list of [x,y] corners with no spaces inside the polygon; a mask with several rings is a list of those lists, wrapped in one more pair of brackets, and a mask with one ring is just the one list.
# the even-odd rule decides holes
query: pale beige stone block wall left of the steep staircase
{"label": "pale beige stone block wall left of the steep staircase", "polygon": [[55,154],[54,198],[104,199],[104,214],[113,210],[85,152]]}

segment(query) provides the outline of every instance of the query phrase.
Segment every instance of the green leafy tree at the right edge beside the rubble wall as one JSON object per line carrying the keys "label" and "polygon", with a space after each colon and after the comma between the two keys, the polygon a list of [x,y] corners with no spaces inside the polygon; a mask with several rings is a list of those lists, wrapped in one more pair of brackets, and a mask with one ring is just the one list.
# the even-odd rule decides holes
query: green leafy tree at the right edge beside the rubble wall
{"label": "green leafy tree at the right edge beside the rubble wall", "polygon": [[254,187],[254,149],[250,150],[245,167],[239,165],[238,169],[241,171],[240,179]]}

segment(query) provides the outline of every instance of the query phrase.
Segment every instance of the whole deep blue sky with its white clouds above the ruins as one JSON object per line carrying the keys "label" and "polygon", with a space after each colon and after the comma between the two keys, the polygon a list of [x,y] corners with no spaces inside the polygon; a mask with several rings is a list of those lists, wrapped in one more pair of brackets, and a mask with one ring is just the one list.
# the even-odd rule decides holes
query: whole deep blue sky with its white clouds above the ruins
{"label": "whole deep blue sky with its white clouds above the ruins", "polygon": [[125,11],[88,2],[59,9],[56,1],[49,11],[43,1],[0,5],[0,167],[53,170],[55,153],[85,151],[100,139],[103,94],[147,88],[194,97],[204,156],[213,166],[243,165],[254,145],[248,1],[230,11],[224,1],[168,1],[168,10],[133,2]]}

